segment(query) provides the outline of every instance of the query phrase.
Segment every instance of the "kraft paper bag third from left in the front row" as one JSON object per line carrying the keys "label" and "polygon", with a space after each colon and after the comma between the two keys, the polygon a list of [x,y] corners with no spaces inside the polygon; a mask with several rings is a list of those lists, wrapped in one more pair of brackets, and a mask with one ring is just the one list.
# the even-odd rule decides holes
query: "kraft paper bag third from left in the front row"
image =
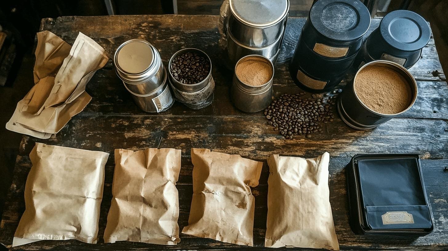
{"label": "kraft paper bag third from left in the front row", "polygon": [[254,246],[255,199],[262,162],[209,149],[191,149],[193,199],[183,234]]}

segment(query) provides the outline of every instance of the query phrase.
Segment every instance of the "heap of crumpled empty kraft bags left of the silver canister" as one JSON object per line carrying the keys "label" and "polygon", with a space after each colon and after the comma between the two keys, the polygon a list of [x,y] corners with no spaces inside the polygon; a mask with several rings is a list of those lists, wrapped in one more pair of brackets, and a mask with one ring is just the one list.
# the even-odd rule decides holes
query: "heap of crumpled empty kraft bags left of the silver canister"
{"label": "heap of crumpled empty kraft bags left of the silver canister", "polygon": [[19,101],[6,128],[49,138],[89,104],[86,84],[107,63],[108,56],[98,43],[81,32],[71,49],[49,31],[39,32],[37,37],[35,85]]}

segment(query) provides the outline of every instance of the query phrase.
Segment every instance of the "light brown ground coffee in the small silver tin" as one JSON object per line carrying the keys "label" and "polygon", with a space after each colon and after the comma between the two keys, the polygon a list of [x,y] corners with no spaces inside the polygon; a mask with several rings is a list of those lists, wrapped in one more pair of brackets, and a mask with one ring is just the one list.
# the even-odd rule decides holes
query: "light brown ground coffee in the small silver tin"
{"label": "light brown ground coffee in the small silver tin", "polygon": [[246,85],[261,86],[272,78],[272,69],[266,62],[251,59],[238,64],[235,74]]}

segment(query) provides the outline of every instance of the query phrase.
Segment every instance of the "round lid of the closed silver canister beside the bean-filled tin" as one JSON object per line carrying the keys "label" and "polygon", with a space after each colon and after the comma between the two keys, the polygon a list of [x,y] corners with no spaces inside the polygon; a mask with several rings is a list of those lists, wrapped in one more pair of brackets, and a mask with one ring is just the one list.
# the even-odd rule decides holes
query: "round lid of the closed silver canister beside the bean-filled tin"
{"label": "round lid of the closed silver canister beside the bean-filled tin", "polygon": [[151,44],[133,39],[118,48],[115,64],[128,74],[139,74],[148,69],[153,61]]}

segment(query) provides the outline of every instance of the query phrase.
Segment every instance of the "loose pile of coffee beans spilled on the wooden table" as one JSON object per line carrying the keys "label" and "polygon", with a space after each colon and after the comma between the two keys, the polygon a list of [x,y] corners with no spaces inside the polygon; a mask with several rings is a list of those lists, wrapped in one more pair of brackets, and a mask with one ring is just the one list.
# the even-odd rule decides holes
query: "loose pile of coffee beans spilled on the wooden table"
{"label": "loose pile of coffee beans spilled on the wooden table", "polygon": [[305,92],[297,94],[283,94],[264,110],[267,123],[280,130],[285,138],[292,139],[293,135],[306,135],[311,138],[312,133],[322,131],[320,123],[334,121],[333,107],[336,97],[342,90],[326,93],[321,98],[303,97]]}

